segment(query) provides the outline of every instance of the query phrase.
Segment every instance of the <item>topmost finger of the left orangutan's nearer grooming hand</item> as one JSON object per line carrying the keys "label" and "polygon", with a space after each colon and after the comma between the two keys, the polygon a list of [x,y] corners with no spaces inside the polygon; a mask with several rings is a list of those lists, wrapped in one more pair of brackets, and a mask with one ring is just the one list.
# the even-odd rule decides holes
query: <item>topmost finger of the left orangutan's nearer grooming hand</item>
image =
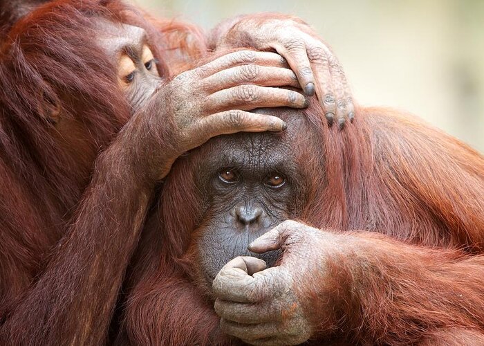
{"label": "topmost finger of the left orangutan's nearer grooming hand", "polygon": [[258,64],[263,66],[288,68],[288,63],[281,55],[270,52],[257,51],[236,51],[216,58],[193,71],[201,78],[207,78],[218,71],[228,69],[237,65]]}

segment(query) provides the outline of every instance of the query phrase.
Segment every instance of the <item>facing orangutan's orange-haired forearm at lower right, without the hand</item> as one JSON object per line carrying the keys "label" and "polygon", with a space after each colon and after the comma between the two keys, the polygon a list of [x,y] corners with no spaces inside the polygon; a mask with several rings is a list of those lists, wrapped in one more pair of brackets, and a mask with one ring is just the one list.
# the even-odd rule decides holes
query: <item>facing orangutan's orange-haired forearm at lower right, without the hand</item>
{"label": "facing orangutan's orange-haired forearm at lower right, without the hand", "polygon": [[482,255],[412,246],[371,233],[348,237],[355,244],[353,254],[329,270],[346,268],[342,272],[352,283],[346,301],[360,308],[348,327],[361,331],[359,339],[413,343],[439,329],[484,331]]}

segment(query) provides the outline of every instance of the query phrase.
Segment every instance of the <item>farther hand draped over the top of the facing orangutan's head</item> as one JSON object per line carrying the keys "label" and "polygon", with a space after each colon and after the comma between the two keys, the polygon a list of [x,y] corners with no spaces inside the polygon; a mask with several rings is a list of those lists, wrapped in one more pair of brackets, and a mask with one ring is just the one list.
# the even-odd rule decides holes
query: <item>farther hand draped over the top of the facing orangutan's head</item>
{"label": "farther hand draped over the top of the facing orangutan's head", "polygon": [[335,120],[342,128],[346,120],[353,121],[355,107],[342,66],[315,30],[301,19],[272,13],[246,15],[215,35],[219,36],[215,39],[216,49],[250,47],[277,51],[295,71],[306,95],[316,92],[329,125]]}

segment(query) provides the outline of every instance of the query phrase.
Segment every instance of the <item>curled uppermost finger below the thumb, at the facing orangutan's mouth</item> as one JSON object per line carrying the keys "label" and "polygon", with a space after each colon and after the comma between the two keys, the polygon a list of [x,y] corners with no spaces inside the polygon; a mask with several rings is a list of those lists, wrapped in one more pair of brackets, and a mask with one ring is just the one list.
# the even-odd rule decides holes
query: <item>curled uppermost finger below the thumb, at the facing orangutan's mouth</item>
{"label": "curled uppermost finger below the thumb, at the facing orangutan's mouth", "polygon": [[216,275],[212,283],[212,291],[216,298],[221,300],[241,303],[261,302],[277,290],[274,277],[277,278],[278,274],[279,269],[274,267],[251,276],[241,268],[226,264]]}

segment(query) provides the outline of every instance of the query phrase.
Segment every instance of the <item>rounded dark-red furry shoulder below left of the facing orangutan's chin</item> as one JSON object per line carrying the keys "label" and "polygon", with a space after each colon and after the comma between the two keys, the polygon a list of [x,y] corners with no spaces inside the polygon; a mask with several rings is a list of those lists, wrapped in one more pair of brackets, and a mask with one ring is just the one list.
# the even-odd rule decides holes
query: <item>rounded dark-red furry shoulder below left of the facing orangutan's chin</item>
{"label": "rounded dark-red furry shoulder below left of the facing orangutan's chin", "polygon": [[[148,260],[160,262],[160,253]],[[222,334],[212,303],[174,268],[176,264],[167,261],[141,277],[129,293],[122,337],[133,345],[235,344]]]}

